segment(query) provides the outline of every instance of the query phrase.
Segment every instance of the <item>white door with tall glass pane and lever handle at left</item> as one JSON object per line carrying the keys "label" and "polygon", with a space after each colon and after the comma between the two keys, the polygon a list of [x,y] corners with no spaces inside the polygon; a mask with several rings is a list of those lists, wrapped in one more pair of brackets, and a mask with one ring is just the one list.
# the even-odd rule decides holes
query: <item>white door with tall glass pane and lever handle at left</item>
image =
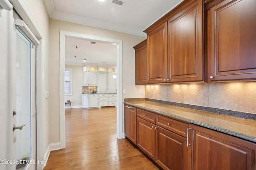
{"label": "white door with tall glass pane and lever handle at left", "polygon": [[36,47],[16,28],[16,169],[36,168]]}

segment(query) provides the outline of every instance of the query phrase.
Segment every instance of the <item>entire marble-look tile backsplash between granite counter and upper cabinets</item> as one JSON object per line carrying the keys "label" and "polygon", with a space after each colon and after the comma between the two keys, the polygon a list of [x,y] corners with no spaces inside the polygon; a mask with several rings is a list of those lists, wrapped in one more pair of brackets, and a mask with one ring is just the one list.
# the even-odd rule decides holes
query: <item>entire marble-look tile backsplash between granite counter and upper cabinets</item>
{"label": "entire marble-look tile backsplash between granite counter and upper cabinets", "polygon": [[256,83],[146,85],[145,98],[256,114]]}

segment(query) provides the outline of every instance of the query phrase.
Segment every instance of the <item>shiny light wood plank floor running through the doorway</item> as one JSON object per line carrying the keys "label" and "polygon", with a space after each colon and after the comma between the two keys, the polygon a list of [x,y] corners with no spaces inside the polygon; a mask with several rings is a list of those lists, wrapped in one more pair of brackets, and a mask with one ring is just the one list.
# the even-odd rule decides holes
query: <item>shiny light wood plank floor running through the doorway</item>
{"label": "shiny light wood plank floor running through the doorway", "polygon": [[66,148],[44,170],[158,170],[127,139],[116,138],[116,107],[66,109]]}

